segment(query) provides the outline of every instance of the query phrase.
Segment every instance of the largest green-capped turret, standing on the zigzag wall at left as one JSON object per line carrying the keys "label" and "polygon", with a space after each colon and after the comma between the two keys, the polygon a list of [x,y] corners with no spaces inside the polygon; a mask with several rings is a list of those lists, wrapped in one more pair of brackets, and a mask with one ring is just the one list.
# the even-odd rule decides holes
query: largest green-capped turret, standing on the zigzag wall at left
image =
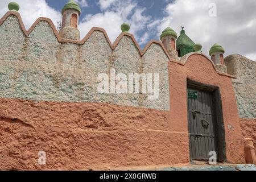
{"label": "largest green-capped turret, standing on the zigzag wall at left", "polygon": [[80,31],[77,28],[81,9],[79,5],[71,0],[62,10],[62,26],[59,35],[63,39],[80,40]]}

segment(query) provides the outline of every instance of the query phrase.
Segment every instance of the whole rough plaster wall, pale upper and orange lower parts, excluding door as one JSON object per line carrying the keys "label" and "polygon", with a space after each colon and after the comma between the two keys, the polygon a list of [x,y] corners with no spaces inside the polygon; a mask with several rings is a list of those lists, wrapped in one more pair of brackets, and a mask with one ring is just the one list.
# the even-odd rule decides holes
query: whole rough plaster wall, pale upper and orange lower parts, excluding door
{"label": "whole rough plaster wall, pale upper and orange lower parts, excluding door", "polygon": [[[51,32],[42,21],[24,36],[14,15],[0,26],[0,169],[189,164],[187,78],[220,88],[228,162],[245,162],[232,78],[207,57],[193,53],[182,64],[168,61],[159,44],[142,53],[127,34],[113,49],[101,31],[82,44],[60,43]],[[95,76],[113,65],[117,72],[160,72],[159,101],[93,92]],[[46,166],[38,165],[39,151]]]}

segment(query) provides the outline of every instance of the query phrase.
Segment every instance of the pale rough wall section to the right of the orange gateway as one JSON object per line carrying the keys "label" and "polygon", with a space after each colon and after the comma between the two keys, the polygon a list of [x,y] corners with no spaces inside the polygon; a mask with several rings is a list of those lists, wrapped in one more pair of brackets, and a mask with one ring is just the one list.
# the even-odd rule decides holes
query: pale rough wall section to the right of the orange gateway
{"label": "pale rough wall section to the right of the orange gateway", "polygon": [[256,118],[256,62],[241,55],[225,58],[228,73],[236,75],[233,87],[240,118]]}

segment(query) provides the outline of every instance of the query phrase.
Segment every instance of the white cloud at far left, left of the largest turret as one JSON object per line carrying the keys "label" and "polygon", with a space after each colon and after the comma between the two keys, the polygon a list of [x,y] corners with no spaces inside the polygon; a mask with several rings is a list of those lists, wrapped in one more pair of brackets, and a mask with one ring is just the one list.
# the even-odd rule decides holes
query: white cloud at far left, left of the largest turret
{"label": "white cloud at far left, left of the largest turret", "polygon": [[[13,0],[1,0],[0,17],[7,13],[8,4]],[[50,7],[45,0],[15,0],[20,6],[19,13],[22,16],[23,23],[26,29],[39,17],[50,18],[57,26],[57,22],[61,20],[61,13]]]}

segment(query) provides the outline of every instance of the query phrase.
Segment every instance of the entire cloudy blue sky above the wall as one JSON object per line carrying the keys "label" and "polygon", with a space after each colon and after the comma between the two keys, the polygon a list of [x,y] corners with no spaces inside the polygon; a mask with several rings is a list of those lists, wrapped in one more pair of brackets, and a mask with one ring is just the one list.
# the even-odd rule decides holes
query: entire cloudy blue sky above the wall
{"label": "entire cloudy blue sky above the wall", "polygon": [[[41,16],[57,26],[61,9],[69,0],[0,0],[0,17],[9,2],[19,3],[26,28]],[[130,24],[130,33],[143,49],[150,40],[159,40],[166,27],[180,35],[180,26],[209,55],[214,43],[225,48],[225,56],[239,53],[256,61],[256,0],[75,0],[82,13],[81,39],[92,27],[106,30],[112,43],[121,34],[120,26]]]}

